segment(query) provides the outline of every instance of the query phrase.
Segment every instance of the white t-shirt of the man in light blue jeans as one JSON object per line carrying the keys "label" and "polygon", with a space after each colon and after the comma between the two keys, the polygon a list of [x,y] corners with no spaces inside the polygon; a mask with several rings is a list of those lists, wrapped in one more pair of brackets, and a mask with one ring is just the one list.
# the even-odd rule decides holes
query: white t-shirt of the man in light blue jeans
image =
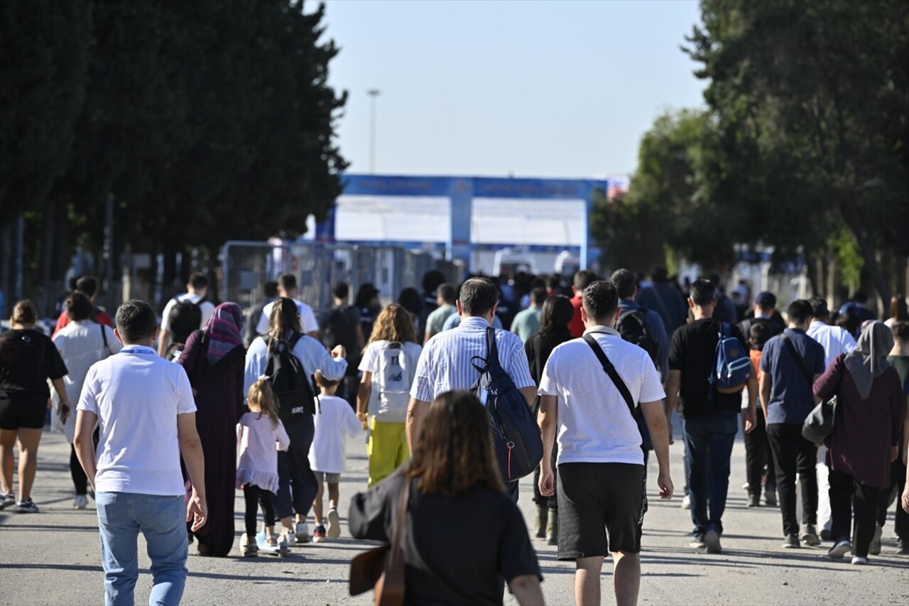
{"label": "white t-shirt of the man in light blue jeans", "polygon": [[127,346],[88,370],[76,409],[98,417],[95,490],[185,494],[176,417],[195,401],[182,366]]}

